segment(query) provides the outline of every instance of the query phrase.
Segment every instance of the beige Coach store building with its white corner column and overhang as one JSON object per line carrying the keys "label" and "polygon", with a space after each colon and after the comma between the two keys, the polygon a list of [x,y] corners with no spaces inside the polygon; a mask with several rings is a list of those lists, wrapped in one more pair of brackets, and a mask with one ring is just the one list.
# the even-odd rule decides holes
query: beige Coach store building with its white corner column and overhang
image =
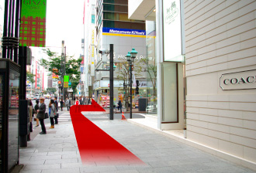
{"label": "beige Coach store building with its white corner column and overhang", "polygon": [[[178,141],[256,170],[256,1],[152,2],[130,0],[129,17],[155,21],[158,129],[181,130],[184,126],[186,138]],[[163,60],[164,47],[172,49],[163,40],[172,39],[164,35],[164,25],[165,20],[175,20],[176,12],[181,12],[184,61],[175,70],[174,62]],[[178,120],[163,124],[163,117],[170,116],[163,105],[171,107],[175,102],[164,100],[168,93],[161,89],[173,84],[165,81],[174,70],[178,74]]]}

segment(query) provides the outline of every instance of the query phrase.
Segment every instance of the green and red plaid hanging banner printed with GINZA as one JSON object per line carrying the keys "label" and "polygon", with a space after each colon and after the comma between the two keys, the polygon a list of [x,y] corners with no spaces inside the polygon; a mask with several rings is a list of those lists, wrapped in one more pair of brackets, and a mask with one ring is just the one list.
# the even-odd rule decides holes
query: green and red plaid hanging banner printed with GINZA
{"label": "green and red plaid hanging banner printed with GINZA", "polygon": [[19,46],[45,47],[47,0],[22,1]]}

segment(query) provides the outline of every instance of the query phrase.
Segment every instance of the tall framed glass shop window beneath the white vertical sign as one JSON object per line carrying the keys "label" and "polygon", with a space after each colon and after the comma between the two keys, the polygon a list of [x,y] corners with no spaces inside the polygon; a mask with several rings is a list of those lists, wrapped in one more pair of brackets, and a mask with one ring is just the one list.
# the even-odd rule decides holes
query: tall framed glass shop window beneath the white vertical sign
{"label": "tall framed glass shop window beneath the white vertical sign", "polygon": [[161,130],[184,128],[184,93],[182,63],[163,63]]}

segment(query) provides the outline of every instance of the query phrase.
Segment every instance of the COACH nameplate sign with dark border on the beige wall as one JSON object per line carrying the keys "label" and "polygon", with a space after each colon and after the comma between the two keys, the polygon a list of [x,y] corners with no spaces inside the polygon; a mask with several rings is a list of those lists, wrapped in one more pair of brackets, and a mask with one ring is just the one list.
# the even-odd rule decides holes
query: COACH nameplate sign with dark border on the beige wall
{"label": "COACH nameplate sign with dark border on the beige wall", "polygon": [[223,74],[220,87],[222,90],[256,89],[256,70]]}

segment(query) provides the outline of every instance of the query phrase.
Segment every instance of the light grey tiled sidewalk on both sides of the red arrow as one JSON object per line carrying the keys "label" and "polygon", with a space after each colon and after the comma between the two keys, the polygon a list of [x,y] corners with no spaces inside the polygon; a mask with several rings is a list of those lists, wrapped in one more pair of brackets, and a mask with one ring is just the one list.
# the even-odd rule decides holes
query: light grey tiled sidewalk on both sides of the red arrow
{"label": "light grey tiled sidewalk on both sides of the red arrow", "polygon": [[[136,154],[146,166],[82,165],[71,122],[58,124],[47,134],[37,134],[27,148],[20,149],[22,173],[43,172],[254,172],[217,158],[169,137],[123,120],[95,120],[124,147]],[[40,127],[36,127],[40,128]]]}

